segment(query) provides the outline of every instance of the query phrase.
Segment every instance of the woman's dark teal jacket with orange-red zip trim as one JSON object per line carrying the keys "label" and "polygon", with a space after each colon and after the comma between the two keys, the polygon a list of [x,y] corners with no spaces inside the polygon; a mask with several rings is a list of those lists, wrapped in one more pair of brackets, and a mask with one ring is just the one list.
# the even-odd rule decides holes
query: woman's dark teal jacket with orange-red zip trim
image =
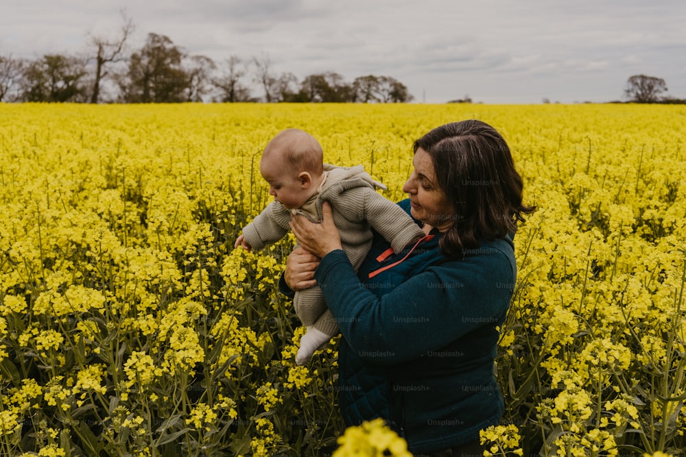
{"label": "woman's dark teal jacket with orange-red zip trim", "polygon": [[343,336],[347,425],[383,417],[414,453],[477,440],[498,423],[504,405],[493,363],[517,275],[510,236],[446,258],[440,233],[431,235],[409,255],[381,258],[388,243],[377,237],[358,273],[332,251],[315,274]]}

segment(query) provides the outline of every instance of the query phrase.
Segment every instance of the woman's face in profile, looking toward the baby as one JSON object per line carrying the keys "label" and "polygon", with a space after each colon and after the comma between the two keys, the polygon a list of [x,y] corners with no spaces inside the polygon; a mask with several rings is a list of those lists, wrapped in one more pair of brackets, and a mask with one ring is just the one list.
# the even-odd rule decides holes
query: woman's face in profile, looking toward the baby
{"label": "woman's face in profile, looking toward the baby", "polygon": [[410,196],[412,217],[445,232],[453,225],[456,214],[455,208],[436,182],[434,161],[427,151],[419,148],[414,153],[412,164],[414,171],[403,186],[403,192]]}

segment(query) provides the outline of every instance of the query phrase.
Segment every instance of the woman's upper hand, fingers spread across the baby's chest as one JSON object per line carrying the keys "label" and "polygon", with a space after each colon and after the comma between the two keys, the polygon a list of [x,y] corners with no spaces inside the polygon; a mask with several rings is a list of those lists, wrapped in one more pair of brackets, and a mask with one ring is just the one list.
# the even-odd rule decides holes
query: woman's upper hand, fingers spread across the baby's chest
{"label": "woman's upper hand, fingers spread across the baby's chest", "polygon": [[333,223],[331,203],[322,204],[322,222],[314,223],[304,216],[291,218],[291,230],[298,244],[306,251],[322,258],[335,249],[341,249],[341,236]]}

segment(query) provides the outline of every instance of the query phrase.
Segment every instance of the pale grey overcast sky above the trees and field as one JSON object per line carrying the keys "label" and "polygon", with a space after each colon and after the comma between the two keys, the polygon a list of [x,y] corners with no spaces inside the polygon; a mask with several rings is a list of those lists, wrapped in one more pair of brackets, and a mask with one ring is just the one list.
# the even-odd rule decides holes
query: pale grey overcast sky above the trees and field
{"label": "pale grey overcast sky above the trees and field", "polygon": [[[685,0],[0,0],[0,55],[93,53],[122,8],[136,29],[221,63],[268,55],[299,79],[388,75],[415,101],[622,99],[626,80],[665,79],[686,98]],[[255,95],[261,95],[255,88]]]}

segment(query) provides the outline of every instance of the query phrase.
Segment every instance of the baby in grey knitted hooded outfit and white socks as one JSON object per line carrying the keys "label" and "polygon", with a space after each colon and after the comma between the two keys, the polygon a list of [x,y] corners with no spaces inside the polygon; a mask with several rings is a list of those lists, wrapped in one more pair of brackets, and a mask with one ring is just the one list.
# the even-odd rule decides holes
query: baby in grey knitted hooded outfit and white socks
{"label": "baby in grey knitted hooded outfit and white socks", "polygon": [[[299,129],[286,129],[270,140],[259,168],[274,201],[243,228],[234,247],[250,251],[275,243],[287,234],[293,214],[320,222],[323,201],[331,203],[343,250],[355,271],[372,244],[372,228],[395,252],[424,236],[405,211],[377,193],[377,187],[386,187],[373,181],[362,165],[332,166],[323,163],[323,156],[314,136]],[[296,292],[293,304],[307,328],[296,354],[296,363],[303,365],[338,334],[338,324],[318,286]]]}

